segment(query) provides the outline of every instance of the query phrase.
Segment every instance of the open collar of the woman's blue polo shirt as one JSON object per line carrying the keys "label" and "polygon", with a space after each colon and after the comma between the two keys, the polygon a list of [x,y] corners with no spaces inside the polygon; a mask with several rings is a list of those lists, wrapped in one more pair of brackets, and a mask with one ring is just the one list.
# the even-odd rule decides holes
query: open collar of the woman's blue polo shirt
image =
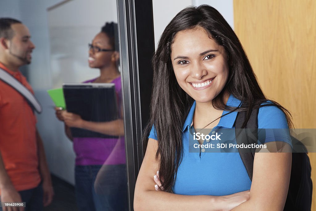
{"label": "open collar of the woman's blue polo shirt", "polygon": [[[235,98],[233,95],[230,95],[226,105],[230,106],[230,107],[238,107],[240,105],[240,102],[241,101],[239,99]],[[191,127],[195,106],[196,106],[196,102],[194,101],[192,106],[191,106],[191,109],[189,111],[189,114],[186,117],[186,120],[184,122],[182,132],[184,132],[187,127]],[[229,113],[229,112],[230,111],[223,111],[222,115],[225,115],[225,114],[227,114],[227,115],[221,117],[221,119],[216,127],[233,128],[238,112],[237,111],[234,111],[231,113]]]}

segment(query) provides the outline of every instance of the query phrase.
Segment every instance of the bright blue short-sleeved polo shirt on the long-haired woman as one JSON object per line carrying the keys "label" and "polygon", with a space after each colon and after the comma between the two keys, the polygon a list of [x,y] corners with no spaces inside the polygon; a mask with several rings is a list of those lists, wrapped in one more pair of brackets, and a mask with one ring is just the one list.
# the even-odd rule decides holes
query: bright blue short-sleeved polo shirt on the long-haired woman
{"label": "bright blue short-sleeved polo shirt on the long-haired woman", "polygon": [[[227,105],[237,107],[240,100],[234,96],[228,98]],[[189,129],[191,126],[196,102],[193,103],[183,126],[183,158],[179,165],[173,193],[181,195],[230,195],[249,190],[251,180],[238,152],[189,152]],[[222,115],[229,113],[223,111]],[[213,128],[234,128],[237,112],[221,117],[218,125]],[[258,129],[288,128],[286,117],[282,110],[275,106],[261,107],[258,113]],[[289,136],[270,134],[263,143],[284,141],[289,144]],[[149,138],[157,140],[152,127]],[[203,144],[206,144],[204,141]]]}

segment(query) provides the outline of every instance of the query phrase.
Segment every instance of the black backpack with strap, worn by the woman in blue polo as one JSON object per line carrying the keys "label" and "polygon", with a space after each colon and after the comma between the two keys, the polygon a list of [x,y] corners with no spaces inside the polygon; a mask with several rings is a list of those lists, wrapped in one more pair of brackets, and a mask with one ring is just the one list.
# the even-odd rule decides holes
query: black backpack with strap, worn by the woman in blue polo
{"label": "black backpack with strap, worn by the woman in blue polo", "polygon": [[[258,141],[258,112],[259,109],[253,109],[249,121],[244,128],[253,128],[249,135],[241,130],[246,118],[246,112],[238,112],[235,121],[235,132],[237,144],[254,143]],[[256,129],[256,130],[255,130]],[[256,133],[257,131],[257,133]],[[256,136],[257,138],[253,138]],[[299,140],[291,136],[292,143],[302,145],[300,150],[306,148]],[[245,152],[238,148],[242,162],[244,163],[248,176],[252,180],[254,153]],[[305,151],[306,152],[306,151]],[[313,183],[311,179],[311,164],[306,153],[292,153],[292,167],[289,183],[289,191],[283,210],[311,210]]]}

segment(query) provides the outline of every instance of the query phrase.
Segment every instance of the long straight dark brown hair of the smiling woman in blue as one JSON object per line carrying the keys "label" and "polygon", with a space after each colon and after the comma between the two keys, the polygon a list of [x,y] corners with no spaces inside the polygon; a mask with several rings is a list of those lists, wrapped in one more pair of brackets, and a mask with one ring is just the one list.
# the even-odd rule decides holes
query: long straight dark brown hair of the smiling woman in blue
{"label": "long straight dark brown hair of the smiling woman in blue", "polygon": [[[252,109],[273,105],[285,113],[289,127],[293,126],[288,110],[277,102],[270,101],[260,105],[267,102],[267,98],[258,84],[239,39],[223,16],[208,5],[183,9],[165,28],[152,59],[154,78],[150,120],[143,136],[146,149],[148,134],[154,125],[158,141],[156,159],[160,160],[159,176],[167,192],[171,191],[177,177],[183,152],[182,126],[194,101],[177,83],[170,58],[171,45],[178,32],[196,27],[204,28],[218,45],[225,48],[228,56],[228,81],[222,92],[213,99],[214,108],[231,112],[247,111],[246,123]],[[225,91],[240,99],[242,104],[237,108],[226,106],[223,102]]]}

